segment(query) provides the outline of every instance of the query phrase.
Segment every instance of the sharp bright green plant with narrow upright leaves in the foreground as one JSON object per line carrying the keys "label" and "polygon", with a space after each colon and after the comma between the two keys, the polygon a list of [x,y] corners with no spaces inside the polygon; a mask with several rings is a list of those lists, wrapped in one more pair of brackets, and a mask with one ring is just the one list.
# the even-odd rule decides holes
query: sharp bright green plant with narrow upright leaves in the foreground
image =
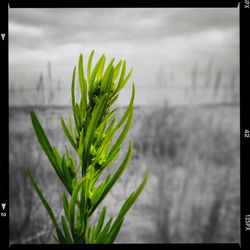
{"label": "sharp bright green plant with narrow upright leaves in the foreground", "polygon": [[[123,174],[131,158],[132,141],[120,167],[113,175],[109,174],[102,180],[103,171],[117,159],[129,131],[135,96],[133,84],[130,103],[121,119],[116,122],[114,114],[117,107],[112,110],[111,107],[118,98],[119,91],[128,82],[132,70],[126,75],[126,61],[119,61],[114,66],[113,58],[104,71],[105,55],[101,56],[92,69],[93,55],[94,51],[88,59],[86,75],[82,54],[79,57],[79,103],[76,102],[74,94],[74,67],[71,98],[75,126],[73,127],[71,117],[69,127],[61,118],[63,131],[75,153],[66,146],[66,152],[61,156],[56,147],[50,144],[36,114],[31,111],[31,120],[38,141],[68,193],[62,194],[64,215],[61,216],[61,224],[57,222],[29,168],[27,173],[56,229],[56,235],[53,236],[62,244],[113,243],[127,211],[144,188],[149,174],[147,170],[140,186],[126,199],[115,220],[110,218],[105,223],[107,208],[104,206],[98,220],[91,226],[91,216]],[[114,136],[119,131],[115,140]]]}

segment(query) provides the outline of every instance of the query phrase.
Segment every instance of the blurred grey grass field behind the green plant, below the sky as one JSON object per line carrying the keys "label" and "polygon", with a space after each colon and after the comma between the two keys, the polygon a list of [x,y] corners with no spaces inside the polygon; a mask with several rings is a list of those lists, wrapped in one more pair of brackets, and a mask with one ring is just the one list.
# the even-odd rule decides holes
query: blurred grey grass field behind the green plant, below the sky
{"label": "blurred grey grass field behind the green plant, below the sky", "polygon": [[[70,109],[36,109],[51,142],[64,150],[60,117],[67,118]],[[11,241],[50,243],[52,227],[25,167],[35,170],[57,216],[62,186],[36,140],[29,108],[10,108],[9,121]],[[108,214],[118,212],[146,165],[151,176],[117,242],[239,242],[238,106],[136,108],[130,137],[133,159],[104,201]]]}

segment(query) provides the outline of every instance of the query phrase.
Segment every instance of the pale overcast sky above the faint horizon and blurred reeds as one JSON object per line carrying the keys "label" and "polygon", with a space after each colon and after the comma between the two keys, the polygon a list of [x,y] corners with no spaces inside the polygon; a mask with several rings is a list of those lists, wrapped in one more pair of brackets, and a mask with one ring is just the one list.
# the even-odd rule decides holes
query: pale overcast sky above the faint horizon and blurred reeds
{"label": "pale overcast sky above the faint horizon and blurred reeds", "polygon": [[73,66],[95,49],[126,59],[138,86],[155,86],[157,72],[185,79],[209,62],[224,74],[239,70],[239,9],[9,9],[9,74],[34,87],[39,74],[66,87]]}

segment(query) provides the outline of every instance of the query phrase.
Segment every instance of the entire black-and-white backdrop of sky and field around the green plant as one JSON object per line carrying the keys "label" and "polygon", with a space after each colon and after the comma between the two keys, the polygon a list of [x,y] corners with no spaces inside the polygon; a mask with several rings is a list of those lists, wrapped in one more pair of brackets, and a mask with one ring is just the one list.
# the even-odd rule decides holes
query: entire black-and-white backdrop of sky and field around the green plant
{"label": "entire black-and-white backdrop of sky and field around the green plant", "polygon": [[[139,184],[118,243],[240,240],[239,9],[9,9],[11,243],[53,243],[53,227],[25,168],[31,166],[60,216],[63,191],[42,152],[29,112],[64,151],[73,67],[126,59],[135,82],[131,163],[105,199],[110,216]],[[124,145],[127,149],[128,140]],[[116,165],[114,166],[115,169]]]}

